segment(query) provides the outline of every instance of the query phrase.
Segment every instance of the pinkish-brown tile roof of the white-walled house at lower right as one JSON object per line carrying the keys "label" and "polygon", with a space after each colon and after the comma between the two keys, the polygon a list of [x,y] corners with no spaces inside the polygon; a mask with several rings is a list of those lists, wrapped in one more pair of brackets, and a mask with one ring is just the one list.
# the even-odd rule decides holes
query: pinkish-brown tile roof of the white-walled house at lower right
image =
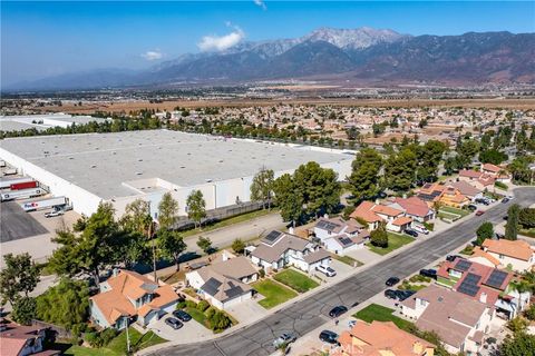
{"label": "pinkish-brown tile roof of the white-walled house at lower right", "polygon": [[470,327],[475,327],[487,310],[485,304],[436,285],[417,291],[409,299],[401,301],[401,305],[414,309],[417,299],[424,299],[429,305],[416,322],[416,326],[424,330],[436,332],[442,342],[457,348],[468,337]]}

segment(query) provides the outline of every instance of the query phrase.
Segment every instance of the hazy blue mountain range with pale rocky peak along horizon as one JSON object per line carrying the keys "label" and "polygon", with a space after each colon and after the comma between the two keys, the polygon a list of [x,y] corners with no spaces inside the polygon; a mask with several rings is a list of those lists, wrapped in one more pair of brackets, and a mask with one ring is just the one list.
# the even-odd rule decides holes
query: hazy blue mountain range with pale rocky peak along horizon
{"label": "hazy blue mountain range with pale rocky peak along horizon", "polygon": [[535,83],[535,33],[410,36],[372,28],[320,28],[295,39],[242,42],[187,53],[146,70],[101,69],[45,78],[9,89],[225,85],[320,79],[397,83]]}

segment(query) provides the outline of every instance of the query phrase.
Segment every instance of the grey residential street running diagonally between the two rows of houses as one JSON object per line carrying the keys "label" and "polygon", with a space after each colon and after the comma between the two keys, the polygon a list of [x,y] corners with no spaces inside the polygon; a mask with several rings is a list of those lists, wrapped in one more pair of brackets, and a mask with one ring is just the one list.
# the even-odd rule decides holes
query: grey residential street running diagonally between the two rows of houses
{"label": "grey residential street running diagonally between the two rows of houses", "polygon": [[[438,258],[470,241],[476,229],[484,221],[503,221],[512,204],[523,206],[535,204],[535,188],[518,188],[515,199],[499,204],[483,216],[471,216],[450,229],[437,234],[421,244],[399,253],[373,267],[362,270],[310,297],[278,310],[265,319],[236,329],[221,338],[195,344],[169,346],[150,355],[270,355],[274,352],[272,342],[281,333],[292,332],[304,335],[328,322],[329,310],[337,305],[353,306],[386,289],[385,281],[391,277],[406,278]],[[179,337],[179,332],[177,333]]]}

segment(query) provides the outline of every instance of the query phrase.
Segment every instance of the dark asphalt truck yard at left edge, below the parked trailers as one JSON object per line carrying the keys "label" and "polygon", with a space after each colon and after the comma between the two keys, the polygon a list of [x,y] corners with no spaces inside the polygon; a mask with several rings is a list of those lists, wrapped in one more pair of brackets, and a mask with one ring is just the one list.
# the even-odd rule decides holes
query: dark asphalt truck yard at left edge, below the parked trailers
{"label": "dark asphalt truck yard at left edge, below the parked trailers", "polygon": [[47,234],[48,230],[17,201],[3,201],[0,206],[0,241],[7,243],[20,238]]}

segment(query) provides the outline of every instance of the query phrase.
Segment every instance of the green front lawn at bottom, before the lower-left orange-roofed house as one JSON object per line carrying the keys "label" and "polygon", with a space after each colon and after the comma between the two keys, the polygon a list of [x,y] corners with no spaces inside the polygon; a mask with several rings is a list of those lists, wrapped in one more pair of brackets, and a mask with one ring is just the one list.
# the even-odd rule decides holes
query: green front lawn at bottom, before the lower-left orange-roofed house
{"label": "green front lawn at bottom, before the lower-left orange-roofed house", "polygon": [[[157,336],[152,330],[142,334],[134,327],[128,328],[128,336],[130,338],[130,352],[140,350],[143,348],[162,344],[166,339]],[[101,348],[89,348],[74,345],[65,352],[65,355],[74,356],[123,356],[126,355],[126,332],[123,330],[108,345]]]}

